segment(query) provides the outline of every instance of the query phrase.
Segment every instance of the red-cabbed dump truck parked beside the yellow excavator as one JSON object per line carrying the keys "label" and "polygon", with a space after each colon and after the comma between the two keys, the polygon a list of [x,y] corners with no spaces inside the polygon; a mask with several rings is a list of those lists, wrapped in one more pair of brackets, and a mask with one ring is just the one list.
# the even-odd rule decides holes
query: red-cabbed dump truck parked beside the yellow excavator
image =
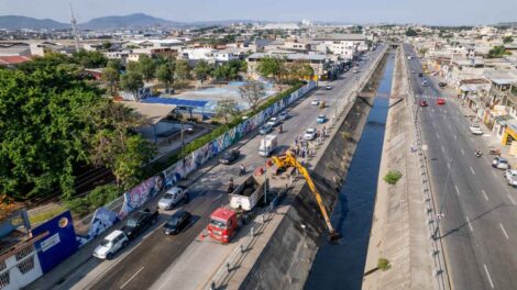
{"label": "red-cabbed dump truck parked beside the yellow excavator", "polygon": [[210,214],[207,225],[208,236],[220,243],[229,243],[242,224],[246,224],[254,216],[253,210],[264,197],[265,182],[250,176],[229,193],[230,203],[219,208]]}

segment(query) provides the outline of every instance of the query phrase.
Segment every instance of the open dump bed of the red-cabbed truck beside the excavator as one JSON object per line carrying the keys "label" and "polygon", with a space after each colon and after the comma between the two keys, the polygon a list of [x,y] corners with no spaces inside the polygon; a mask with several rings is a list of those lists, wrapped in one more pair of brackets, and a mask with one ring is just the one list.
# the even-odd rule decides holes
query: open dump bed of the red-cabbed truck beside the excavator
{"label": "open dump bed of the red-cabbed truck beside the excavator", "polygon": [[238,211],[251,211],[264,197],[264,181],[254,176],[250,176],[244,182],[239,185],[232,193],[228,194],[230,208]]}

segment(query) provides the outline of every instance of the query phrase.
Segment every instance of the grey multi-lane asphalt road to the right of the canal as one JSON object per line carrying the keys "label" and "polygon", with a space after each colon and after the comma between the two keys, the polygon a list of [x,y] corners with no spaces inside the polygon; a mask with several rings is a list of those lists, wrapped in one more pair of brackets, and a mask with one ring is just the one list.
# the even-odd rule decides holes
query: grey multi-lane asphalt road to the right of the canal
{"label": "grey multi-lane asphalt road to the right of the canal", "polygon": [[[415,55],[408,46],[405,49]],[[406,62],[415,70],[410,80],[417,100],[429,104],[418,114],[436,203],[438,209],[443,204],[440,237],[452,287],[517,289],[517,190],[507,186],[503,170],[491,167],[491,156],[474,156],[476,147],[488,152],[483,138],[493,133],[472,135],[454,98],[436,104],[436,97],[444,92],[433,81],[421,86],[420,62]]]}

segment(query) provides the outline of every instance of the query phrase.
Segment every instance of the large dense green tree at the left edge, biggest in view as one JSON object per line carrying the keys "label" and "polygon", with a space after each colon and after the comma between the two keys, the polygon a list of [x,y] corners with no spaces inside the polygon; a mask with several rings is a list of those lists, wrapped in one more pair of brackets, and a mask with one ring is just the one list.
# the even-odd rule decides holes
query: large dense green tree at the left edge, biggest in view
{"label": "large dense green tree at the left edge, biggest in view", "polygon": [[74,166],[88,160],[86,120],[102,100],[47,60],[31,74],[0,70],[0,192],[15,199],[74,193]]}

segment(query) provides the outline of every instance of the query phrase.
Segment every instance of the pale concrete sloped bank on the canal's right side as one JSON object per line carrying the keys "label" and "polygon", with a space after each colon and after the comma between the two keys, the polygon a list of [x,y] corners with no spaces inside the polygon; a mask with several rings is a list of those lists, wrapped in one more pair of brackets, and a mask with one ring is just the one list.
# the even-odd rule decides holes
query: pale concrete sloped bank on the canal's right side
{"label": "pale concrete sloped bank on the canal's right side", "polygon": [[[407,93],[406,72],[406,62],[398,49],[392,96]],[[417,153],[410,149],[416,138],[409,101],[407,97],[391,100],[362,289],[433,289],[436,286]],[[391,170],[402,174],[393,186],[383,180]],[[380,258],[387,259],[391,268],[378,270]]]}

